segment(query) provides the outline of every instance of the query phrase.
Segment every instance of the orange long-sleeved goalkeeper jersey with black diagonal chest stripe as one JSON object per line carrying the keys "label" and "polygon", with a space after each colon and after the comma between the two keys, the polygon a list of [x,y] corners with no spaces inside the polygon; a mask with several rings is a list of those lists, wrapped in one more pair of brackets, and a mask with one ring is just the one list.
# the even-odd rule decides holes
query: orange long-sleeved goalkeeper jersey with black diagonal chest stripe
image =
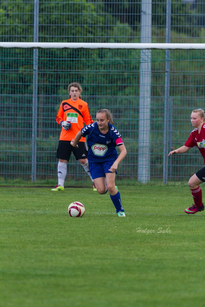
{"label": "orange long-sleeved goalkeeper jersey with black diagonal chest stripe", "polygon": [[[85,125],[93,123],[92,117],[89,112],[88,104],[78,99],[73,101],[70,99],[63,100],[56,115],[56,121],[60,125],[61,121],[71,122],[71,127],[68,130],[61,130],[60,140],[72,141],[78,131]],[[80,142],[86,142],[85,138],[81,138]]]}

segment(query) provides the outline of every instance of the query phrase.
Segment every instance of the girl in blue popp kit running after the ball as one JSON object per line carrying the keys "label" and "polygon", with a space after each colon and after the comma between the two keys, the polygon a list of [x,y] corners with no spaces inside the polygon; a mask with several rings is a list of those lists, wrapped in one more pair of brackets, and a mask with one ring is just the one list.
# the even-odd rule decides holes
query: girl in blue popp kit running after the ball
{"label": "girl in blue popp kit running after the ball", "polygon": [[[120,200],[120,192],[115,186],[115,176],[118,164],[127,154],[120,133],[113,126],[112,114],[107,109],[101,109],[96,114],[96,122],[84,126],[71,141],[73,147],[81,137],[88,136],[89,171],[100,194],[110,193],[110,198],[116,208],[117,215],[124,217],[124,209]],[[116,146],[120,150],[118,156]],[[105,181],[106,178],[106,181]]]}

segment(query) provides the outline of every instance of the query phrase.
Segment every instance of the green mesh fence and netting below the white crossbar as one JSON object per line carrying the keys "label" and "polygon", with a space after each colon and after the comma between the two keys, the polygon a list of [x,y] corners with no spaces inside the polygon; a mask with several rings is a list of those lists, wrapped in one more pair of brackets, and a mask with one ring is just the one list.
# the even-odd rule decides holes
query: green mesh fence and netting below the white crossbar
{"label": "green mesh fence and netting below the white crossbar", "polygon": [[[114,125],[120,131],[128,152],[119,165],[117,182],[142,184],[138,174],[141,163],[138,140],[139,128],[144,127],[145,123],[139,115],[147,112],[147,108],[139,107],[142,56],[143,51],[126,49],[39,49],[35,92],[34,50],[0,49],[0,184],[32,183],[32,172],[35,169],[34,153],[32,155],[34,138],[35,185],[57,182],[56,149],[61,126],[56,123],[55,116],[61,101],[68,98],[67,87],[73,81],[81,84],[82,99],[89,104],[93,120],[100,108],[108,108],[113,114]],[[170,51],[170,91],[166,121],[165,50],[152,50],[149,61],[150,132],[143,134],[144,141],[149,141],[147,166],[150,176],[146,184],[163,185],[164,165],[167,165],[166,184],[183,185],[203,167],[203,158],[196,148],[183,155],[169,158],[167,155],[187,140],[192,130],[191,111],[204,108],[204,51]],[[36,131],[33,126],[35,97]],[[166,154],[165,145],[168,150]],[[82,183],[90,185],[90,179],[72,156],[65,185]]]}

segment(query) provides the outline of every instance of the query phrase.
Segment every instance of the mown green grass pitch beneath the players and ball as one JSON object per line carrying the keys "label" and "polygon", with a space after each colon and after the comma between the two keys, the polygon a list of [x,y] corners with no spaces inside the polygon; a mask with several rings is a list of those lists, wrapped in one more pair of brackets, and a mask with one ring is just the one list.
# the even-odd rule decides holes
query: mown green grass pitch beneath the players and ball
{"label": "mown green grass pitch beneath the players and ball", "polygon": [[184,213],[188,187],[120,187],[126,218],[91,188],[0,193],[0,306],[204,306],[205,212]]}

